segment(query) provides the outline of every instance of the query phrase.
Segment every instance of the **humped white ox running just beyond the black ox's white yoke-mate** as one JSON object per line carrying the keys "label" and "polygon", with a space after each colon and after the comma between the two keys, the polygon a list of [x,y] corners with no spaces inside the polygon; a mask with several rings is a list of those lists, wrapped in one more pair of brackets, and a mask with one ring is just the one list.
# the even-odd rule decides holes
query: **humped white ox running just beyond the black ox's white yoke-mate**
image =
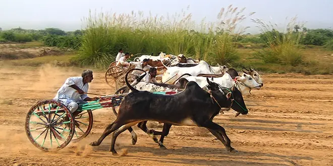
{"label": "humped white ox running just beyond the black ox's white yoke-mate", "polygon": [[167,67],[167,71],[165,71],[162,74],[162,82],[164,84],[173,84],[174,81],[176,81],[180,76],[183,74],[191,74],[193,76],[196,76],[198,74],[224,74],[226,71],[228,71],[227,66],[210,66],[207,62],[201,60],[198,65],[191,66],[191,67],[178,67],[178,66],[172,66]]}

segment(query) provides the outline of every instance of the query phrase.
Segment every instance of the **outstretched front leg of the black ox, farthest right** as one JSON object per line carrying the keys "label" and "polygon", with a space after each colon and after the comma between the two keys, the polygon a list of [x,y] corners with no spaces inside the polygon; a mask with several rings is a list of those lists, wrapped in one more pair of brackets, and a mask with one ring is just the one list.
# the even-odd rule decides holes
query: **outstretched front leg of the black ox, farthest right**
{"label": "outstretched front leg of the black ox, farthest right", "polygon": [[[224,145],[226,146],[227,151],[238,152],[236,149],[231,147],[231,141],[230,141],[229,137],[227,136],[225,128],[221,127],[220,125],[218,125],[212,121],[204,122],[202,127],[207,128],[209,131],[213,131],[212,134],[213,135],[216,134],[215,136],[217,137],[217,139],[219,139],[222,143],[224,143],[223,139],[219,138],[222,135],[225,139]],[[216,133],[214,133],[214,132],[216,132]]]}

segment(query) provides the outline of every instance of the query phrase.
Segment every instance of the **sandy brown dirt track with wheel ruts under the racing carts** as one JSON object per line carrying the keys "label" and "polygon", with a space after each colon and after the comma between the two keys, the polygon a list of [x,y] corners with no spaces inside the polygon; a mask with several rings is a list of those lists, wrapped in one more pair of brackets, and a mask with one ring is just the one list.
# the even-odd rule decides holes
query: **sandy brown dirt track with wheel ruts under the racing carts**
{"label": "sandy brown dirt track with wheel ruts under the racing carts", "polygon": [[[333,75],[262,75],[264,88],[244,97],[247,116],[235,118],[231,110],[213,120],[225,127],[238,153],[227,152],[207,130],[185,126],[171,128],[164,139],[167,150],[136,126],[136,145],[128,131],[117,139],[116,150],[127,149],[125,156],[108,152],[110,137],[79,152],[69,148],[73,144],[55,153],[37,149],[24,132],[27,111],[37,100],[53,98],[67,77],[81,71],[47,65],[0,68],[0,102],[7,103],[0,109],[0,165],[333,165]],[[115,92],[105,84],[104,72],[95,72],[89,86],[91,93]],[[96,140],[114,119],[111,109],[94,111],[92,132],[81,145]],[[152,126],[161,130],[148,122]]]}

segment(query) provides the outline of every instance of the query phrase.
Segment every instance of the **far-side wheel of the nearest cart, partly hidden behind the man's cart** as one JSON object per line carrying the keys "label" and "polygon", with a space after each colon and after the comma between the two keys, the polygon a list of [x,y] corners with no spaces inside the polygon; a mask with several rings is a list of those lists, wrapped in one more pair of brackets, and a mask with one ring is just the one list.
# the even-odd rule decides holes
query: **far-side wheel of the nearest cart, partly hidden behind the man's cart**
{"label": "far-side wheel of the nearest cart, partly hidden behind the man's cart", "polygon": [[[78,114],[75,116],[75,114]],[[74,112],[75,130],[72,142],[78,142],[87,137],[92,129],[93,116],[91,110]]]}

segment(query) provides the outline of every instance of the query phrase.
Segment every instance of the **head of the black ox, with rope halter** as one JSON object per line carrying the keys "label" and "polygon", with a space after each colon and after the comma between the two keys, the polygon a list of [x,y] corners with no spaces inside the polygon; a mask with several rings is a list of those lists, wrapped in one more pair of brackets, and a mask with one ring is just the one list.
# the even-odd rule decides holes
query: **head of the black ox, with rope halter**
{"label": "head of the black ox, with rope halter", "polygon": [[246,108],[242,93],[233,86],[232,88],[228,89],[225,87],[221,87],[220,85],[216,84],[208,79],[207,80],[207,88],[211,91],[211,97],[213,100],[216,100],[219,107],[222,108],[232,108],[233,110],[237,111],[236,117],[240,114],[246,115],[249,111]]}

